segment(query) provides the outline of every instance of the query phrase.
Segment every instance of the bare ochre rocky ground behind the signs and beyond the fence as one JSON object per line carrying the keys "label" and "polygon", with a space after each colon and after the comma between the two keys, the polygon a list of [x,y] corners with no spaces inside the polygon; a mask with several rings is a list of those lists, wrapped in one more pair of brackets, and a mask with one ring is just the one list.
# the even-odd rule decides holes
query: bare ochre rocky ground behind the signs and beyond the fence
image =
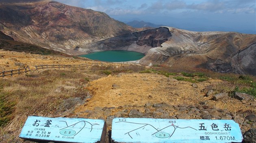
{"label": "bare ochre rocky ground behind the signs and beyond the fence", "polygon": [[[27,64],[31,68],[41,64],[93,62],[73,57],[42,56],[4,50],[0,51],[0,55],[1,70],[17,69],[15,62]],[[115,65],[117,69],[120,67],[117,63],[105,64]],[[238,95],[233,98],[227,93],[217,92],[216,87],[225,84],[219,79],[209,78],[192,84],[174,79],[176,76],[182,75],[169,78],[161,74],[138,72],[101,75],[84,86],[84,90],[88,90],[91,97],[85,99],[82,105],[77,103],[72,110],[61,116],[105,120],[108,130],[106,143],[111,142],[111,124],[115,117],[234,120],[243,134],[251,129],[244,134],[244,138],[249,142],[255,141],[256,103],[252,96]],[[58,115],[60,114],[52,117]],[[22,140],[15,139],[13,142]]]}

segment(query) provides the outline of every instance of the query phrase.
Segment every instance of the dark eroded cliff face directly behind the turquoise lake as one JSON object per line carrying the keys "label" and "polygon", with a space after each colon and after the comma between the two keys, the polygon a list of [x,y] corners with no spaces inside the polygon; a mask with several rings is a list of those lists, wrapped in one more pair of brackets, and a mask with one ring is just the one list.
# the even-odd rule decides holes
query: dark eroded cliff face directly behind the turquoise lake
{"label": "dark eroded cliff face directly behind the turquoise lake", "polygon": [[76,50],[91,53],[102,50],[130,50],[146,54],[150,48],[160,47],[171,37],[169,29],[159,27],[140,32],[133,32],[106,40],[81,45]]}

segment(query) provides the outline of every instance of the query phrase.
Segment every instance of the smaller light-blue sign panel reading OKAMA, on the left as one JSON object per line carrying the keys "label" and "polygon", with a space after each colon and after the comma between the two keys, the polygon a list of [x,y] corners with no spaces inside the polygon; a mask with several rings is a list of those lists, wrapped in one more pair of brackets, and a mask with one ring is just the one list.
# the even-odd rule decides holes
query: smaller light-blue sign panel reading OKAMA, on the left
{"label": "smaller light-blue sign panel reading OKAMA, on the left", "polygon": [[104,120],[29,116],[20,138],[28,140],[96,143],[105,141]]}

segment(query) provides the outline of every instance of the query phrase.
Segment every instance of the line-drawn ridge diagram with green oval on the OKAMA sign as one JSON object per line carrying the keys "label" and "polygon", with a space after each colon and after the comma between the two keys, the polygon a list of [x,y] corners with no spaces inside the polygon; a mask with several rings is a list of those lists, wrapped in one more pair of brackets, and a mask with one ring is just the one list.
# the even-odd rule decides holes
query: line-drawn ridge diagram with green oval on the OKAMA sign
{"label": "line-drawn ridge diagram with green oval on the OKAMA sign", "polygon": [[87,129],[88,132],[91,132],[94,125],[99,125],[97,123],[91,124],[87,121],[80,121],[72,125],[68,125],[66,121],[59,121],[59,122],[65,122],[66,126],[65,128],[60,129],[61,135],[65,136],[76,136],[81,130]]}

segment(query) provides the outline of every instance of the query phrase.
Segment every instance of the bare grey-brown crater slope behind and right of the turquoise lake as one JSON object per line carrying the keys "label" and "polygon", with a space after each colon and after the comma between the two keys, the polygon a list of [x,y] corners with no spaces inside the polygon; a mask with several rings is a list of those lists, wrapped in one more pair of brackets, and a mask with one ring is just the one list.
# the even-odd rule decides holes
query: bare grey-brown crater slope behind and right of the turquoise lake
{"label": "bare grey-brown crater slope behind and right of the turquoise lake", "polygon": [[143,65],[256,75],[256,35],[235,32],[191,32],[158,27],[81,45],[77,50],[131,50],[145,54]]}

